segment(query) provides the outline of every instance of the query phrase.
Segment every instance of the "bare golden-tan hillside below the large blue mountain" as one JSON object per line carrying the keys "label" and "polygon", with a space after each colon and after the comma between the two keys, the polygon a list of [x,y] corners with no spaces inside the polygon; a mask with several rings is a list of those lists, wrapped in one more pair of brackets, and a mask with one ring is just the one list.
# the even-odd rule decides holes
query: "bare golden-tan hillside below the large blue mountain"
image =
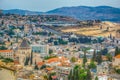
{"label": "bare golden-tan hillside below the large blue mountain", "polygon": [[89,27],[69,27],[62,28],[61,31],[64,33],[75,33],[78,35],[85,36],[102,36],[108,37],[110,35],[115,36],[116,30],[120,29],[120,24],[112,22],[102,22],[99,25],[89,26]]}

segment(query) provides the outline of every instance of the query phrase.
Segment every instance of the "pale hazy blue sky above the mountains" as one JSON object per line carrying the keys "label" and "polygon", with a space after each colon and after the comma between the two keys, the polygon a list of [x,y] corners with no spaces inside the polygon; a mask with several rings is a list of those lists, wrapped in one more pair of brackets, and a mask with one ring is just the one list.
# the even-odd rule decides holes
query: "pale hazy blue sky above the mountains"
{"label": "pale hazy blue sky above the mountains", "polygon": [[120,8],[120,0],[0,0],[0,9],[48,11],[66,6],[107,5]]}

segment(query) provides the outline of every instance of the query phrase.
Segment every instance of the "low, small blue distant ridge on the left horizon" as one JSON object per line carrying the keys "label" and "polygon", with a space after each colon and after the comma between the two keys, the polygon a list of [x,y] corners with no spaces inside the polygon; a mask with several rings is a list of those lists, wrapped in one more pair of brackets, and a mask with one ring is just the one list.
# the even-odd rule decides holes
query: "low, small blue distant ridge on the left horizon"
{"label": "low, small blue distant ridge on the left horizon", "polygon": [[4,14],[7,14],[7,13],[10,13],[10,14],[20,14],[20,15],[40,15],[40,14],[43,14],[43,12],[21,10],[21,9],[3,10],[3,13]]}

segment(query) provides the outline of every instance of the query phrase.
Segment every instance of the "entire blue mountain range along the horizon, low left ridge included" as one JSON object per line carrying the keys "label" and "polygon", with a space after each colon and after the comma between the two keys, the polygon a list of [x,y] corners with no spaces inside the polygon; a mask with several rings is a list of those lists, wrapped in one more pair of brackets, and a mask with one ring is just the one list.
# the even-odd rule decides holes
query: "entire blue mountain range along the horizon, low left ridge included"
{"label": "entire blue mountain range along the horizon, low left ridge included", "polygon": [[62,15],[70,16],[79,20],[102,20],[120,22],[120,8],[110,6],[77,6],[77,7],[62,7],[47,12],[36,12],[20,9],[3,10],[3,13],[12,13],[20,15]]}

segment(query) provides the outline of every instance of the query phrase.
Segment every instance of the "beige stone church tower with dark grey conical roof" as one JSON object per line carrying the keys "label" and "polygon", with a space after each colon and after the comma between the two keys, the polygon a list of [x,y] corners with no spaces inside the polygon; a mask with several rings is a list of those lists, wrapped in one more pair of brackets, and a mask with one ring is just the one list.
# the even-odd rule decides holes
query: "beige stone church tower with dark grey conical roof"
{"label": "beige stone church tower with dark grey conical roof", "polygon": [[26,58],[31,58],[31,48],[26,38],[23,39],[18,48],[18,57],[21,65],[24,65]]}

